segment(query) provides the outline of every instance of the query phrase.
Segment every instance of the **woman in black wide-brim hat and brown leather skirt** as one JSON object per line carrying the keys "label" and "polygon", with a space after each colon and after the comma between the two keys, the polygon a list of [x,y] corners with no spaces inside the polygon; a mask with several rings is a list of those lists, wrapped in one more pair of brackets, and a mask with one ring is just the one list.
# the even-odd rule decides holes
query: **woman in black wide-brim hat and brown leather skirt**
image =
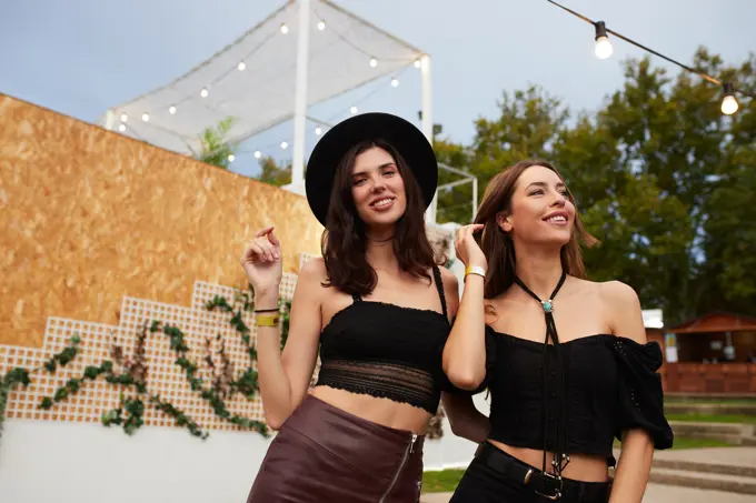
{"label": "woman in black wide-brim hat and brown leather skirt", "polygon": [[[268,424],[280,429],[248,503],[419,500],[422,434],[441,391],[451,391],[440,356],[458,304],[424,224],[437,175],[426,138],[397,117],[357,115],[324,135],[306,181],[326,227],[322,259],[299,273],[282,355],[280,244],[269,228],[246,250],[260,393]],[[445,395],[445,405],[455,433],[485,439],[487,420],[469,395]]]}

